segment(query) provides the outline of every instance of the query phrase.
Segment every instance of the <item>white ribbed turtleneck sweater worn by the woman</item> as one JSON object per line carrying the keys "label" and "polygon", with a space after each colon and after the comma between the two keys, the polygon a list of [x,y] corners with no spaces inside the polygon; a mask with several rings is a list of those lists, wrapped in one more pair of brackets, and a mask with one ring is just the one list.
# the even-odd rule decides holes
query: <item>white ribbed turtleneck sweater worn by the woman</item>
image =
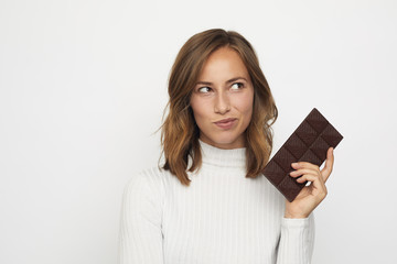
{"label": "white ribbed turtleneck sweater worn by the woman", "polygon": [[283,218],[276,187],[245,177],[245,147],[200,145],[203,165],[187,174],[189,187],[158,167],[127,184],[119,264],[311,263],[313,213]]}

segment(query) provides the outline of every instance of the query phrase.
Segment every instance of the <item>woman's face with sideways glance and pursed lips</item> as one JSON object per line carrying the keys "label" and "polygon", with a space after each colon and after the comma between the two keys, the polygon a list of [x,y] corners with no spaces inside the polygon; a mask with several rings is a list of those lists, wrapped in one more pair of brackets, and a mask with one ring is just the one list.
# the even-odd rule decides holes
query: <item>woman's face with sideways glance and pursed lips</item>
{"label": "woman's face with sideways glance and pursed lips", "polygon": [[229,47],[212,53],[190,101],[200,139],[219,148],[244,147],[253,102],[254,87],[238,53]]}

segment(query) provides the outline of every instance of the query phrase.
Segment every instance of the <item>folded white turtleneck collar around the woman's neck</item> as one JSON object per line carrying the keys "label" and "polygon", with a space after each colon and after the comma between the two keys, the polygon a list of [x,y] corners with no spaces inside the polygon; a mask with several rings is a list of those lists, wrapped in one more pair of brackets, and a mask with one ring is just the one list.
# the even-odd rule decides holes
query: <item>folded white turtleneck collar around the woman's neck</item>
{"label": "folded white turtleneck collar around the woman's neck", "polygon": [[246,147],[224,150],[210,145],[198,139],[202,150],[203,164],[212,164],[221,167],[245,167]]}

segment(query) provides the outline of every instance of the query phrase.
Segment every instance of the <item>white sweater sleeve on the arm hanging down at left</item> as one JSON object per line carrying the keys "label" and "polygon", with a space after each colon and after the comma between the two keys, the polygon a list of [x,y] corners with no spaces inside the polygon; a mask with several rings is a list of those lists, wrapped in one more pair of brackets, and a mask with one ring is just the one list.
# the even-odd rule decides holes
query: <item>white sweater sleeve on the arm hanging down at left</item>
{"label": "white sweater sleeve on the arm hanging down at left", "polygon": [[162,207],[155,177],[140,173],[125,187],[119,234],[119,264],[162,264]]}

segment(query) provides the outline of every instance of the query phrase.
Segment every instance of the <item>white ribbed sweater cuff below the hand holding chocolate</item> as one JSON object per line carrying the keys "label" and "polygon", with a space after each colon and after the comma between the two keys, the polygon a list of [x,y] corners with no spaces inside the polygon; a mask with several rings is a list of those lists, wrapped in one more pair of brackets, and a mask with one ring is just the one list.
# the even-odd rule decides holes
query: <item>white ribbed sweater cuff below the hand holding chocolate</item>
{"label": "white ribbed sweater cuff below the hand holding chocolate", "polygon": [[281,220],[277,264],[310,264],[314,248],[314,215]]}

